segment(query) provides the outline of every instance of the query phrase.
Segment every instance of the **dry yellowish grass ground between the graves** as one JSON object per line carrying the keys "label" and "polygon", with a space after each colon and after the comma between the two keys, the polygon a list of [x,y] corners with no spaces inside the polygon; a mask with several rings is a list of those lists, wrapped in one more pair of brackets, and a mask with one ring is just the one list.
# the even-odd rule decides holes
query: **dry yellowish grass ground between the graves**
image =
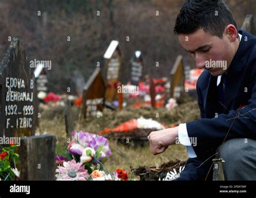
{"label": "dry yellowish grass ground between the graves", "polygon": [[[82,120],[78,119],[80,108],[72,106],[73,119],[75,120],[74,128],[78,132],[86,131],[97,134],[106,127],[113,128],[133,118],[152,118],[161,124],[170,126],[171,124],[178,125],[179,123],[196,120],[200,117],[197,101],[189,98],[187,99],[186,97],[183,97],[184,101],[180,101],[182,104],[170,111],[166,110],[164,107],[155,109],[151,107],[143,107],[134,110],[131,105],[138,100],[140,99],[127,100],[127,107],[122,111],[112,111],[108,108],[104,108],[102,117],[87,117]],[[64,107],[57,106],[49,108],[49,110],[39,109],[39,111],[41,112],[41,118],[39,118],[39,128],[36,131],[37,134],[49,133],[56,135],[58,144],[60,145],[64,145],[68,138],[71,139],[71,135],[67,135],[65,131]],[[157,113],[159,114],[158,118],[156,118]],[[117,149],[123,152],[133,168],[138,168],[140,166],[160,166],[162,163],[170,160],[187,159],[185,146],[173,145],[163,154],[154,156],[150,151],[149,141],[147,140],[145,140],[143,146],[141,146],[140,144],[137,144],[137,142],[133,142],[133,140],[129,140],[129,143],[127,143],[126,140],[125,142],[120,143],[111,138],[107,139],[109,140],[112,154],[105,163],[105,166],[111,172],[116,171],[117,168],[130,170],[129,163],[127,163]]]}

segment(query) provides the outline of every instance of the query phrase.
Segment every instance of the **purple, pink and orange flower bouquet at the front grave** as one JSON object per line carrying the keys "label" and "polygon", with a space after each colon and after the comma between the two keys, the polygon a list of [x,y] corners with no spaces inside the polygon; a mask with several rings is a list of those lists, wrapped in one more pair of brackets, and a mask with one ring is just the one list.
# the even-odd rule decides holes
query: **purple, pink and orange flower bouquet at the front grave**
{"label": "purple, pink and orange flower bouquet at the front grave", "polygon": [[110,155],[106,138],[75,131],[66,148],[57,146],[57,180],[127,180],[125,170],[110,173],[104,166]]}

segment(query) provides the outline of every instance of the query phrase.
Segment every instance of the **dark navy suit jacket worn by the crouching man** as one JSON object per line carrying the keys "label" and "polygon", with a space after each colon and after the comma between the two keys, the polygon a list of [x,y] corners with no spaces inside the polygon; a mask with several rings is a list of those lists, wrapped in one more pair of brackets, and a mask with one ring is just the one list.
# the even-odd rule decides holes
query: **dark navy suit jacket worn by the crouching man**
{"label": "dark navy suit jacket worn by the crouching man", "polygon": [[[225,137],[226,140],[256,139],[256,37],[246,31],[239,33],[242,38],[238,51],[226,71],[223,104],[226,108],[217,99],[217,77],[205,70],[197,81],[201,119],[188,122],[186,126],[188,136],[197,138],[197,146],[193,146],[193,149],[198,158],[189,159],[188,164],[195,160],[199,164],[199,161],[210,158]],[[215,118],[215,115],[218,117]],[[203,176],[210,169],[211,162],[208,166],[198,168],[197,173],[192,170],[195,164],[188,165],[186,175],[183,174],[180,179],[204,180]],[[189,174],[195,177],[192,178]]]}

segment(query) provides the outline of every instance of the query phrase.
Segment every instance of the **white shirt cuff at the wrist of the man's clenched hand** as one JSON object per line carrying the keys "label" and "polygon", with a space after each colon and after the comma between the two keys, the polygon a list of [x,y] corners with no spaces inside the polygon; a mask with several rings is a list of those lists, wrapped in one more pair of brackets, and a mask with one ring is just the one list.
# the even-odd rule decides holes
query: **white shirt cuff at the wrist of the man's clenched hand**
{"label": "white shirt cuff at the wrist of the man's clenched hand", "polygon": [[191,146],[190,138],[187,134],[187,126],[185,124],[180,124],[178,127],[178,137],[181,145],[187,146],[187,154],[190,158],[197,158],[197,154],[194,152]]}

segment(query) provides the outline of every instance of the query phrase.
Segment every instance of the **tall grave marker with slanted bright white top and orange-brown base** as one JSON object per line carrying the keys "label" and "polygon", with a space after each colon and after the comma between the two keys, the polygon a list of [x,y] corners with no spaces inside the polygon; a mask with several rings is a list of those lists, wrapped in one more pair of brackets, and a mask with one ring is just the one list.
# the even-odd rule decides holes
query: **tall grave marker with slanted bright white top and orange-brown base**
{"label": "tall grave marker with slanted bright white top and orange-brown base", "polygon": [[117,99],[117,86],[119,84],[119,74],[121,70],[121,51],[117,40],[112,40],[107,48],[104,58],[104,80],[106,81],[106,101],[114,101]]}

